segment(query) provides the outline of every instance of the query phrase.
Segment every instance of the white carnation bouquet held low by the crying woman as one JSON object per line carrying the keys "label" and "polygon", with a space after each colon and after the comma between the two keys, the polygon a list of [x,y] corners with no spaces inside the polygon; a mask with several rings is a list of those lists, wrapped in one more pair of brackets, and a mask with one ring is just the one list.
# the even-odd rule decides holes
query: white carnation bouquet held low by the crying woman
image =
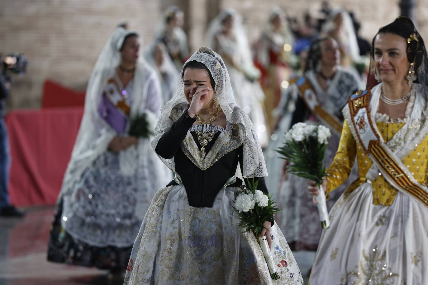
{"label": "white carnation bouquet held low by the crying woman", "polygon": [[238,211],[238,215],[241,218],[239,226],[246,228],[247,232],[253,231],[257,237],[257,241],[262,248],[263,256],[268,264],[270,277],[273,280],[280,278],[276,265],[273,263],[272,256],[270,255],[270,249],[268,241],[265,238],[260,238],[259,234],[263,229],[266,229],[263,224],[269,217],[279,211],[275,208],[275,200],[271,196],[264,194],[262,191],[257,190],[259,182],[250,183],[248,180],[249,188],[241,186],[243,192],[241,192],[235,199],[235,209]]}

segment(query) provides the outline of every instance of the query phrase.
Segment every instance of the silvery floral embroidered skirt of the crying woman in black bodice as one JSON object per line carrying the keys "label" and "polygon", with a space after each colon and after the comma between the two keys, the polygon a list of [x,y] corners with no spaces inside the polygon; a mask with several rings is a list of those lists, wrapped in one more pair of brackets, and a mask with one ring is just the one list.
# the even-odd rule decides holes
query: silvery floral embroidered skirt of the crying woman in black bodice
{"label": "silvery floral embroidered skirt of the crying woman in black bodice", "polygon": [[220,190],[212,208],[188,205],[184,186],[160,189],[134,243],[125,284],[303,284],[299,267],[276,224],[273,281],[253,233],[238,226],[235,191]]}

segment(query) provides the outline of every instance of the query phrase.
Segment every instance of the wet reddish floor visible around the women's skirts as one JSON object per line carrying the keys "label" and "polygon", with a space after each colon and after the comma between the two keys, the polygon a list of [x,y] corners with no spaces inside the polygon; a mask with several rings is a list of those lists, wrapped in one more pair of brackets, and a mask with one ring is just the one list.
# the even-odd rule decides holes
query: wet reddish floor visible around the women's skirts
{"label": "wet reddish floor visible around the women's skirts", "polygon": [[[122,280],[107,278],[93,268],[46,261],[53,207],[25,209],[22,219],[0,218],[0,285],[116,285]],[[307,281],[313,252],[294,256]]]}

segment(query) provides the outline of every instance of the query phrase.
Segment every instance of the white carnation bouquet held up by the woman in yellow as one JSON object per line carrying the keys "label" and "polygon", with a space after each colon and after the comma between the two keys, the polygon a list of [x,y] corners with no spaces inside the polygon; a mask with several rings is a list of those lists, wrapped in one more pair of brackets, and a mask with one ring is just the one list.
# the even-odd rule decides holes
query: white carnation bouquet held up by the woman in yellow
{"label": "white carnation bouquet held up by the woman in yellow", "polygon": [[311,179],[320,188],[315,200],[323,229],[330,226],[326,198],[321,187],[324,176],[327,176],[322,160],[330,137],[330,129],[325,126],[297,123],[285,133],[284,146],[276,150],[284,156],[283,159],[291,162],[291,165],[287,166],[288,173]]}

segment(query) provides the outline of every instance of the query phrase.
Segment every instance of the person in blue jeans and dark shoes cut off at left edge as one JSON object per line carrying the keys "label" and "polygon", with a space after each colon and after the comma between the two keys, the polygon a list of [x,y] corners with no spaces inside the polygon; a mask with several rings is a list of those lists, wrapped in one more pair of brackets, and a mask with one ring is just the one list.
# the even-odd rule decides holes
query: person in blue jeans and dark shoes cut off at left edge
{"label": "person in blue jeans and dark shoes cut off at left edge", "polygon": [[5,71],[6,63],[3,62],[3,72],[0,72],[0,217],[22,217],[23,213],[9,201],[10,154],[4,115],[6,112],[5,100],[9,95],[11,80]]}

